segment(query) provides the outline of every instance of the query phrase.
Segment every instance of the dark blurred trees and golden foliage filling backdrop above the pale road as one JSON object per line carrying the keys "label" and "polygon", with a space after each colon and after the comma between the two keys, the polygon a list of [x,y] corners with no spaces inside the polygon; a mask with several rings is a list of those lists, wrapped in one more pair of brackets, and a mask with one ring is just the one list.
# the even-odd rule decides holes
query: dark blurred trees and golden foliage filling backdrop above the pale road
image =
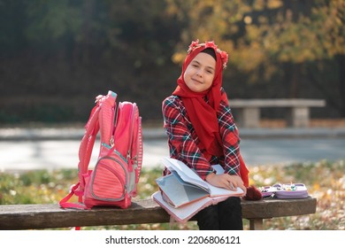
{"label": "dark blurred trees and golden foliage filling backdrop above the pale road", "polygon": [[344,13],[343,0],[0,0],[0,125],[83,124],[108,89],[161,125],[196,39],[229,52],[230,98],[325,99],[311,117],[340,120]]}

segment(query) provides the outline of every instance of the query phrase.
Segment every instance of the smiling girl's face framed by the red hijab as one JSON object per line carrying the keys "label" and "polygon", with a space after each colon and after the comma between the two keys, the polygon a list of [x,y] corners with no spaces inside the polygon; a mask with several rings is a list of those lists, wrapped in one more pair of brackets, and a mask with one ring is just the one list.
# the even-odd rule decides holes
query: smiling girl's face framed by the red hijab
{"label": "smiling girl's face framed by the red hijab", "polygon": [[190,90],[202,92],[211,87],[215,72],[216,60],[211,55],[200,52],[189,63],[183,79]]}

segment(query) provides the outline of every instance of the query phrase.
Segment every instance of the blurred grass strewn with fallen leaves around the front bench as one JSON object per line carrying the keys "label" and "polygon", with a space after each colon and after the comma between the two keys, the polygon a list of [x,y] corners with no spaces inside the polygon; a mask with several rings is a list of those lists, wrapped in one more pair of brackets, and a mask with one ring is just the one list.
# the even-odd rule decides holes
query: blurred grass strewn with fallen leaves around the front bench
{"label": "blurred grass strewn with fallen leaves around the front bench", "polygon": [[[265,229],[341,229],[345,230],[345,160],[292,164],[289,166],[249,167],[250,184],[272,185],[276,182],[303,182],[318,198],[317,213],[265,220]],[[139,196],[150,198],[157,190],[155,179],[160,169],[142,170]],[[0,174],[0,205],[58,203],[77,182],[77,170],[30,171]],[[73,199],[76,201],[76,199]],[[197,229],[196,222],[88,227],[83,229]],[[244,221],[244,229],[249,222]]]}

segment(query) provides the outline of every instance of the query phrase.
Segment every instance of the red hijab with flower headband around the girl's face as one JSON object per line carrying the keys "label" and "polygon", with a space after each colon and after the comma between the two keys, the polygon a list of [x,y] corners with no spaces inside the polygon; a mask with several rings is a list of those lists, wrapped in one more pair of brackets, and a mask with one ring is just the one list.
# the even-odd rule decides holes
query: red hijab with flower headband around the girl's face
{"label": "red hijab with flower headband around the girl's face", "polygon": [[[194,92],[188,88],[183,76],[189,63],[206,48],[211,48],[216,54],[216,70],[212,85],[203,92]],[[225,51],[217,48],[213,42],[199,43],[197,40],[189,46],[188,55],[182,66],[182,73],[177,80],[177,88],[173,95],[179,96],[186,107],[190,121],[196,130],[196,135],[200,139],[199,149],[204,150],[206,159],[211,159],[211,155],[222,156],[222,140],[219,135],[219,123],[217,110],[220,105],[223,68],[226,67],[228,55]],[[209,103],[205,102],[205,97]],[[226,97],[225,97],[226,98]],[[227,99],[223,99],[227,103]]]}

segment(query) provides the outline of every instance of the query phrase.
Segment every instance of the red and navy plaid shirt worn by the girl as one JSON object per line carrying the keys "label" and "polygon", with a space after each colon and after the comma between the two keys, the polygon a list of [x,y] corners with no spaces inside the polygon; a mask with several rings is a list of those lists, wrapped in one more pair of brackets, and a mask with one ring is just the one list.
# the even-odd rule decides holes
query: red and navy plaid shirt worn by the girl
{"label": "red and navy plaid shirt worn by the girl", "polygon": [[[221,93],[222,96],[226,94],[224,89],[221,89]],[[215,164],[220,164],[227,174],[239,174],[240,137],[234,124],[233,114],[226,102],[221,101],[217,112],[224,156],[219,158],[212,156],[210,160],[205,159],[203,151],[198,148],[200,140],[196,136],[180,97],[165,98],[162,112],[171,158],[179,159],[188,167],[194,168],[203,179],[213,172],[211,165]],[[165,170],[164,174],[167,173]]]}

